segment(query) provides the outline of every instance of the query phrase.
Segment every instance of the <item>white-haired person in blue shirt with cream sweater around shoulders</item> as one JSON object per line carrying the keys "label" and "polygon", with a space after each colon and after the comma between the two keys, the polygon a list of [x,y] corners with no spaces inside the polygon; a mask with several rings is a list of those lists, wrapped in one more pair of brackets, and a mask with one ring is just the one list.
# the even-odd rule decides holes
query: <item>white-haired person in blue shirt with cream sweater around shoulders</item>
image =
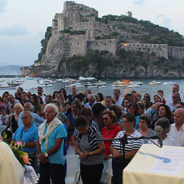
{"label": "white-haired person in blue shirt with cream sweater around shoulders", "polygon": [[47,104],[44,112],[46,120],[39,126],[37,141],[40,159],[39,184],[50,184],[50,178],[53,184],[64,184],[63,139],[67,137],[67,132],[57,118],[58,108],[55,104]]}

